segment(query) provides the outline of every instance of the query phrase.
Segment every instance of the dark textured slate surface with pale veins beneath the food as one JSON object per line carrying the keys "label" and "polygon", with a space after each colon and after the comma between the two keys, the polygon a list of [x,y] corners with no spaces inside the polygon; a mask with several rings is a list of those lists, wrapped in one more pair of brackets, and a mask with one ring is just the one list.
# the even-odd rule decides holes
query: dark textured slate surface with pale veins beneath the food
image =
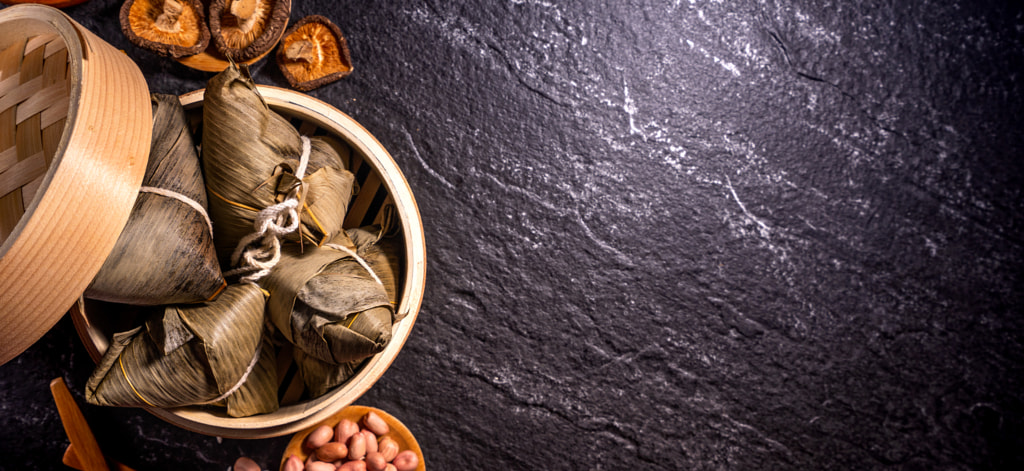
{"label": "dark textured slate surface with pale veins beneath the food", "polygon": [[[1024,466],[1014,2],[403,3],[292,17],[345,33],[355,72],[311,94],[425,221],[420,318],[359,402],[430,469]],[[154,91],[204,86],[118,6],[68,11]],[[0,468],[59,468],[46,385],[90,369],[68,319],[0,367]],[[287,441],[85,413],[144,469]]]}

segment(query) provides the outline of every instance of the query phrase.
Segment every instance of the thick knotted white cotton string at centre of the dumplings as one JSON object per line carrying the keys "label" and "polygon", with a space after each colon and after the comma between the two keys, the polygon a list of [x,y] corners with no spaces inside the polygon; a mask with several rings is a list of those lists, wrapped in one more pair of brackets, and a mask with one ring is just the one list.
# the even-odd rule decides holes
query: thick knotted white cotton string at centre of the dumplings
{"label": "thick knotted white cotton string at centre of the dumplings", "polygon": [[[302,155],[299,156],[295,178],[301,182],[309,164],[310,144],[308,137],[299,137],[302,139]],[[255,283],[270,273],[270,268],[281,260],[281,238],[299,228],[299,187],[301,186],[293,189],[285,201],[270,205],[256,214],[253,221],[255,232],[242,238],[231,254],[231,264],[240,265],[239,268],[227,271],[224,275],[249,273],[242,276],[240,282]],[[253,245],[256,243],[258,245]]]}

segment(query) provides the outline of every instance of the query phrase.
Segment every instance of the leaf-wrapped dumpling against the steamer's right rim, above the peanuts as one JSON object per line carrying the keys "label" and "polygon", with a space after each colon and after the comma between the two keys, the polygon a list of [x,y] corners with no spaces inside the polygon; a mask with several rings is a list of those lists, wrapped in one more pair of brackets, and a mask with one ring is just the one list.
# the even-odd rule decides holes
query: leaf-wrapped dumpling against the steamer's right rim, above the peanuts
{"label": "leaf-wrapped dumpling against the steamer's right rim, above the peanuts", "polygon": [[377,276],[351,256],[344,232],[324,247],[282,249],[260,284],[270,293],[267,316],[306,354],[332,365],[380,352],[391,339],[394,307]]}

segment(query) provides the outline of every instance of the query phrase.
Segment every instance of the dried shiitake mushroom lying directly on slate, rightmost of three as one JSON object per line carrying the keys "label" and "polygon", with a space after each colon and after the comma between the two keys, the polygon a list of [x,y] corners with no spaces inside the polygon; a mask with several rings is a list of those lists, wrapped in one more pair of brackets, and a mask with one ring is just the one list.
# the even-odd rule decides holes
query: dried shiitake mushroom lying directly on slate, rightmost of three
{"label": "dried shiitake mushroom lying directly on slate, rightmost of three", "polygon": [[330,19],[302,18],[285,33],[278,48],[278,66],[288,82],[309,91],[352,73],[348,44]]}

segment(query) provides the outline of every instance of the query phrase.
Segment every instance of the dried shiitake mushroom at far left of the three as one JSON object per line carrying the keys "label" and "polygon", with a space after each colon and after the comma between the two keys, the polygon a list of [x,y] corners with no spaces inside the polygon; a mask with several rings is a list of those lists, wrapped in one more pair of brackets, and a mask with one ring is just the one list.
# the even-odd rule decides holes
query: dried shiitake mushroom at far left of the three
{"label": "dried shiitake mushroom at far left of the three", "polygon": [[199,0],[128,0],[121,5],[121,31],[132,44],[167,57],[195,55],[210,44]]}

